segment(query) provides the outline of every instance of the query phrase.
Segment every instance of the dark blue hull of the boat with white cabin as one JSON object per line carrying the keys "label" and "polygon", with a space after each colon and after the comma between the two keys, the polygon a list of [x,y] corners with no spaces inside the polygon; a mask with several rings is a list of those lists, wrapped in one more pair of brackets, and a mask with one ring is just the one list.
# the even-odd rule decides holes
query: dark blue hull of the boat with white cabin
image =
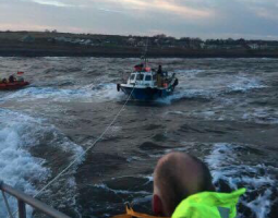
{"label": "dark blue hull of the boat with white cabin", "polygon": [[131,95],[131,97],[135,100],[156,100],[170,95],[173,92],[174,87],[170,86],[168,88],[150,88],[150,87],[138,88],[133,86],[121,85],[120,89],[124,94],[129,96]]}

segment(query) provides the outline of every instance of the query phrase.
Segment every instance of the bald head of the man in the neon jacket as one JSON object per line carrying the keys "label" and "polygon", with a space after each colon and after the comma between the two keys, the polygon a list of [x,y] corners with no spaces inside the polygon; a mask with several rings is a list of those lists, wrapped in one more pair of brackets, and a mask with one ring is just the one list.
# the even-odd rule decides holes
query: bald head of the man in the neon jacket
{"label": "bald head of the man in the neon jacket", "polygon": [[157,162],[154,172],[154,195],[162,204],[162,215],[171,216],[188,196],[214,191],[211,175],[204,162],[183,153],[171,153]]}

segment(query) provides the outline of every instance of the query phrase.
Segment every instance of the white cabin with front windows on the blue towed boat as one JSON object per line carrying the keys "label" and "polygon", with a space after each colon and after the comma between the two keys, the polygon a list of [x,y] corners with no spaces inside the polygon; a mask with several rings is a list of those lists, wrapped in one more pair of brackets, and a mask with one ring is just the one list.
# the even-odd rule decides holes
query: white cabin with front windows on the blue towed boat
{"label": "white cabin with front windows on the blue towed boat", "polygon": [[131,73],[129,80],[129,85],[140,85],[153,87],[157,85],[156,73],[155,72],[133,72]]}

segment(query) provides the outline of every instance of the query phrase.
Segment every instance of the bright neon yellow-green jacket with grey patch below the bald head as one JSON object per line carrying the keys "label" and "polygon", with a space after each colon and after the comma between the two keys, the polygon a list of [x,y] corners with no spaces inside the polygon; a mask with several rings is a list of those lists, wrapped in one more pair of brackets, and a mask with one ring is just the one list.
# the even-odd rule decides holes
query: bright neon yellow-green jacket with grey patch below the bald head
{"label": "bright neon yellow-green jacket with grey patch below the bald head", "polygon": [[172,218],[234,218],[239,197],[245,193],[240,189],[232,193],[202,192],[183,199]]}

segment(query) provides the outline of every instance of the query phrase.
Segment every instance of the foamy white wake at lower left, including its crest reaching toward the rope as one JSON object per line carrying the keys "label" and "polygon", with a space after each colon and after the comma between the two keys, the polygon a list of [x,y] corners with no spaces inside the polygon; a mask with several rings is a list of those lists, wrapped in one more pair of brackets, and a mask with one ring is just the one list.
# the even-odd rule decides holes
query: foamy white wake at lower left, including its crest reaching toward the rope
{"label": "foamy white wake at lower left, including its crest reaching toward the rope", "polygon": [[[0,179],[29,195],[35,195],[36,185],[44,183],[51,175],[51,170],[44,167],[46,160],[33,157],[29,148],[49,143],[49,146],[58,146],[64,152],[73,153],[71,158],[83,152],[53,125],[45,122],[43,119],[0,109]],[[71,178],[70,180],[69,185],[74,184]],[[0,204],[3,205],[1,196]],[[15,210],[16,201],[11,197],[9,204],[12,210]],[[32,209],[27,207],[27,210],[31,217]],[[7,210],[1,207],[0,217],[5,215]]]}

